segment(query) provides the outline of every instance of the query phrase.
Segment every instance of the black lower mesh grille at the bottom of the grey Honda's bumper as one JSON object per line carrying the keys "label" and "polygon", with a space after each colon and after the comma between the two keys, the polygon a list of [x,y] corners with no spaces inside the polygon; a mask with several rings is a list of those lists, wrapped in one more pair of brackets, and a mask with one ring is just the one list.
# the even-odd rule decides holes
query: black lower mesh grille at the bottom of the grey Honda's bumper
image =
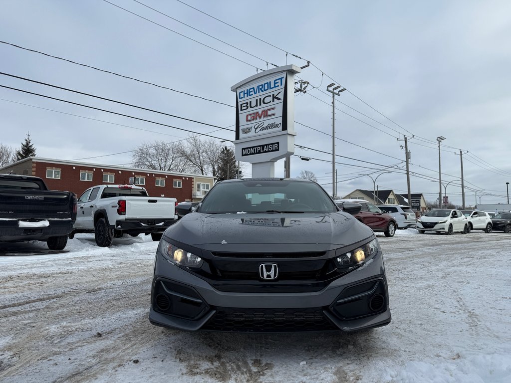
{"label": "black lower mesh grille at the bottom of the grey Honda's bumper", "polygon": [[233,332],[289,332],[338,330],[321,307],[313,308],[226,308],[202,327],[205,330]]}

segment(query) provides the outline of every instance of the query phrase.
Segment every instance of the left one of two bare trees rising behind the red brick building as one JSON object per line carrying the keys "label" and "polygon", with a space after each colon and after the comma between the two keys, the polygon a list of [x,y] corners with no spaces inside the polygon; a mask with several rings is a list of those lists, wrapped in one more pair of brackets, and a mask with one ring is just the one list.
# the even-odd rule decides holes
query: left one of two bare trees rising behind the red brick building
{"label": "left one of two bare trees rising behind the red brick building", "polygon": [[181,156],[179,145],[173,142],[143,142],[131,155],[132,164],[142,169],[183,173],[189,163]]}

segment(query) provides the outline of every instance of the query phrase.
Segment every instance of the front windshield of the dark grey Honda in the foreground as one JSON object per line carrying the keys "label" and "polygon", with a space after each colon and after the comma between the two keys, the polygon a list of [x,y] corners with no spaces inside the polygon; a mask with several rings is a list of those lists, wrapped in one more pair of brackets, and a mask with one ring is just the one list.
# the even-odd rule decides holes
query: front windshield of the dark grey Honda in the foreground
{"label": "front windshield of the dark grey Honda in the foreground", "polygon": [[217,183],[198,209],[202,213],[311,212],[337,207],[314,182],[261,179]]}

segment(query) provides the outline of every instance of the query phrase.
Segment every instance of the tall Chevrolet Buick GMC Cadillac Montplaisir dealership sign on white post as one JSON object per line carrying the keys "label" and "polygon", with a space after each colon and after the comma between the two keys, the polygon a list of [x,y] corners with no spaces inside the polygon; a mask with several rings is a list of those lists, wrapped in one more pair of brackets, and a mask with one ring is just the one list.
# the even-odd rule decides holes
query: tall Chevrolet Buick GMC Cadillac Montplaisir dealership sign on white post
{"label": "tall Chevrolet Buick GMC Cadillac Montplaisir dealership sign on white post", "polygon": [[274,162],[294,153],[294,75],[286,65],[236,85],[236,159],[252,164],[252,177],[274,177]]}

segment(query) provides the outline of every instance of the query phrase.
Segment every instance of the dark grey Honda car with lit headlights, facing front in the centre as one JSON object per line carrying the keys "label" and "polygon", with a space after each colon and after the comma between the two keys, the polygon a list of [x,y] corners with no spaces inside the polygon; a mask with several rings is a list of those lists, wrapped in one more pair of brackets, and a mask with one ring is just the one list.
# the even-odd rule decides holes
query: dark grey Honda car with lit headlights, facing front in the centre
{"label": "dark grey Honda car with lit headlights, facing front in the centre", "polygon": [[226,180],[195,211],[190,204],[177,208],[185,216],[165,231],[156,251],[152,324],[286,332],[390,323],[375,234],[317,183]]}

